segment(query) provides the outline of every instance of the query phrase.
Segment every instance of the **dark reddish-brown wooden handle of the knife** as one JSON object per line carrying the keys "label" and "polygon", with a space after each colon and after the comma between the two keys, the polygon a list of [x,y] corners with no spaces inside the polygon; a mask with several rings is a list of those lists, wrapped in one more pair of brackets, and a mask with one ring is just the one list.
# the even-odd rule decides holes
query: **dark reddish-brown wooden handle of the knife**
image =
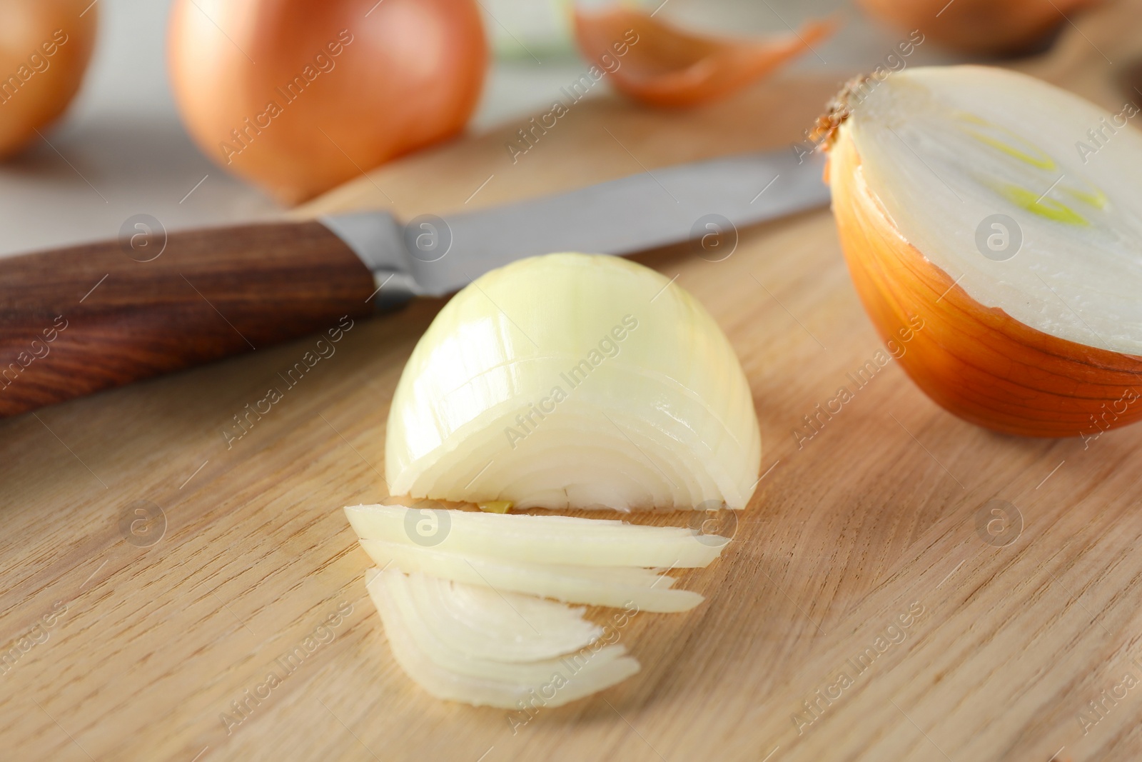
{"label": "dark reddish-brown wooden handle of the knife", "polygon": [[373,288],[315,222],[139,226],[0,259],[0,416],[335,328],[372,312]]}

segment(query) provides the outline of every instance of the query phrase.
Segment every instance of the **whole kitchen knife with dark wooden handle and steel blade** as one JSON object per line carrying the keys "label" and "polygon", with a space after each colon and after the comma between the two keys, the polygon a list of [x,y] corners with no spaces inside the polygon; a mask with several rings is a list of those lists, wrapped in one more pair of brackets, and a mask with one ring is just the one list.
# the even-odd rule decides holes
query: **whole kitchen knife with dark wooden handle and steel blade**
{"label": "whole kitchen knife with dark wooden handle and steel blade", "polygon": [[404,224],[359,211],[167,234],[139,215],[118,240],[0,259],[0,417],[445,296],[522,257],[626,255],[812,209],[822,167],[725,157]]}

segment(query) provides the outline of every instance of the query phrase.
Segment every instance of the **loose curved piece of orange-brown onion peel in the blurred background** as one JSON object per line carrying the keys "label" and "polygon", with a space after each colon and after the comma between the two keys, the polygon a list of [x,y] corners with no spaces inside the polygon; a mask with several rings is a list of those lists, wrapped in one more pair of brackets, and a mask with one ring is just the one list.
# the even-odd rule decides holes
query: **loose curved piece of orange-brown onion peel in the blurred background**
{"label": "loose curved piece of orange-brown onion peel in the blurred background", "polygon": [[695,106],[726,97],[807,53],[835,26],[812,21],[780,39],[737,40],[693,34],[621,6],[574,10],[584,57],[605,69],[619,91],[654,106]]}

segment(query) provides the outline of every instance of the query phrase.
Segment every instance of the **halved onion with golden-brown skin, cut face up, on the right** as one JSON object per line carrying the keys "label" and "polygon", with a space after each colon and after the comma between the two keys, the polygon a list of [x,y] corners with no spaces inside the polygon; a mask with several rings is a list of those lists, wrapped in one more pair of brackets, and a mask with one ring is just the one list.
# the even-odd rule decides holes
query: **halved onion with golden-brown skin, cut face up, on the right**
{"label": "halved onion with golden-brown skin, cut face up, on the right", "polygon": [[1142,135],[1126,118],[984,66],[838,96],[827,176],[850,271],[948,410],[1036,436],[1142,416]]}

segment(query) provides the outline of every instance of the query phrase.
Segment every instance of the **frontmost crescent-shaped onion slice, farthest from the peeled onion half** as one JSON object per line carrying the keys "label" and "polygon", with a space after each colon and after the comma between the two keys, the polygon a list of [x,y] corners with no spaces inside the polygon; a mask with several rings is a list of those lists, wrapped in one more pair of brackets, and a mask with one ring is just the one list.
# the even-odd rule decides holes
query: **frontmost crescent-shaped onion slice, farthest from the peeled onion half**
{"label": "frontmost crescent-shaped onion slice, farthest from the peeled onion half", "polygon": [[[538,692],[542,706],[555,707],[609,688],[638,672],[638,661],[626,656],[624,647],[603,645],[597,639],[576,653],[530,661],[502,661],[458,650],[447,635],[442,635],[439,621],[434,626],[423,618],[424,608],[431,608],[433,602],[411,584],[413,577],[396,569],[373,570],[367,584],[397,663],[437,698],[518,709],[530,705]],[[529,611],[534,613],[534,605],[532,603]],[[436,613],[445,619],[449,616],[447,608],[436,609]],[[509,623],[509,616],[502,610],[500,615],[505,632],[518,632],[518,627]],[[484,618],[494,616],[489,610]],[[552,620],[558,618],[552,612],[546,616]]]}

